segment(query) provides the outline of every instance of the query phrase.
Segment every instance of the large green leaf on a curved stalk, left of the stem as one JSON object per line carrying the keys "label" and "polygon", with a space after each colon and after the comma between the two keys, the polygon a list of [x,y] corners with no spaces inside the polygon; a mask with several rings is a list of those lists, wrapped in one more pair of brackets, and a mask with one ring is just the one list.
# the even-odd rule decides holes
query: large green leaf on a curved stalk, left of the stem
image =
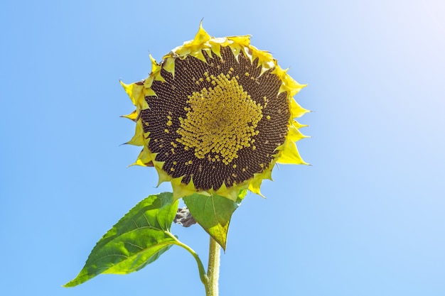
{"label": "large green leaf on a curved stalk, left of the stem", "polygon": [[85,266],[64,287],[85,283],[100,273],[127,274],[156,261],[176,240],[170,226],[178,209],[173,194],[150,195],[136,204],[97,242]]}

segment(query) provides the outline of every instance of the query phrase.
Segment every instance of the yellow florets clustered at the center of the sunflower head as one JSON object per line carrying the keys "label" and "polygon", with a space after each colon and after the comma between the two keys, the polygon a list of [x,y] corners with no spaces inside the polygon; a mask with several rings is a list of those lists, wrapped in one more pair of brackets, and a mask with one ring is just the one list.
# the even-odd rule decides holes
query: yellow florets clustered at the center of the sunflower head
{"label": "yellow florets clustered at the center of the sunflower head", "polygon": [[237,152],[245,147],[255,148],[254,136],[262,119],[262,106],[257,104],[238,84],[239,77],[208,75],[196,80],[207,80],[214,87],[203,88],[188,96],[186,119],[179,119],[181,125],[176,139],[186,149],[195,150],[196,158],[222,161],[228,165]]}

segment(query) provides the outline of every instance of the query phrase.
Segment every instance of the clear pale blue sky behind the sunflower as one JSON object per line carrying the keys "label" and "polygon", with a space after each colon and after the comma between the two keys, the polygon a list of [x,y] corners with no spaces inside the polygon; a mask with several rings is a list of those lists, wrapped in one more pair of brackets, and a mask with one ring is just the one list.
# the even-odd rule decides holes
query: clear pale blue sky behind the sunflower
{"label": "clear pale blue sky behind the sunflower", "polygon": [[[155,188],[127,165],[119,85],[190,40],[252,35],[309,84],[298,147],[235,212],[220,295],[444,295],[443,1],[2,1],[1,295],[204,295],[171,248],[131,275],[77,275]],[[173,232],[206,261],[199,226]]]}

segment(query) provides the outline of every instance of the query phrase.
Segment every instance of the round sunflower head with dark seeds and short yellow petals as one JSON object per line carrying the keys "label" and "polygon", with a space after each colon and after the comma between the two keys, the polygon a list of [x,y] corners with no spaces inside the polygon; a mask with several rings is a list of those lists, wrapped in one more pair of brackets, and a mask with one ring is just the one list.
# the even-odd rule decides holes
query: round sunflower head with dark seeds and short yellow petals
{"label": "round sunflower head with dark seeds and short yellow petals", "polygon": [[151,57],[146,80],[121,82],[136,110],[128,144],[143,146],[134,165],[152,166],[178,199],[198,192],[232,200],[261,194],[276,163],[306,164],[294,142],[305,138],[294,101],[306,85],[250,45],[250,36],[212,38],[202,24],[191,41]]}

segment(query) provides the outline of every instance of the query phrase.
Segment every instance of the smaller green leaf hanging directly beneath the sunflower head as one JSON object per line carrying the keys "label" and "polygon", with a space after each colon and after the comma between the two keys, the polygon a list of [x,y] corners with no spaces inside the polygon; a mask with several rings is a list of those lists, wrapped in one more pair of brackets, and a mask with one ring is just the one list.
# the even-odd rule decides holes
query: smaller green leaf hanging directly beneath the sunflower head
{"label": "smaller green leaf hanging directly beneath the sunflower head", "polygon": [[236,202],[217,194],[208,196],[198,193],[183,197],[183,201],[186,203],[188,210],[198,224],[200,224],[225,251],[230,218],[246,194],[247,190],[240,190]]}

